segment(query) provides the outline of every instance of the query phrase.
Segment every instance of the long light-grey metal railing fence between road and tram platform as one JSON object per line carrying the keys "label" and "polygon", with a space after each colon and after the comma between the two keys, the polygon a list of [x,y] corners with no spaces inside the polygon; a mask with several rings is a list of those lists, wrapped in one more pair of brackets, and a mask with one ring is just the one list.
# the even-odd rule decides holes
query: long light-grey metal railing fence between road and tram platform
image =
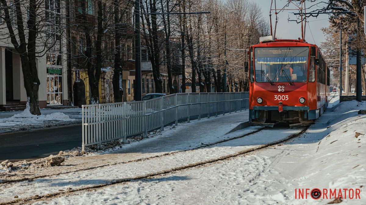
{"label": "long light-grey metal railing fence between road and tram platform", "polygon": [[217,116],[248,107],[247,92],[177,93],[151,100],[82,105],[82,151],[86,146],[143,134],[192,117]]}

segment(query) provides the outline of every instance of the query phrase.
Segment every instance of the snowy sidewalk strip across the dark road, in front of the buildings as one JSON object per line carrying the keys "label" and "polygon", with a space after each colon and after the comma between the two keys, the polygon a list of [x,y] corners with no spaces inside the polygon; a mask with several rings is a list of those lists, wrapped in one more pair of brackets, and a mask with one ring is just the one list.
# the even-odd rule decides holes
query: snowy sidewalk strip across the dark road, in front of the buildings
{"label": "snowy sidewalk strip across the dark road, in front of the buildings", "polygon": [[41,109],[41,115],[31,115],[29,107],[24,111],[0,112],[0,133],[41,129],[81,122],[81,108]]}

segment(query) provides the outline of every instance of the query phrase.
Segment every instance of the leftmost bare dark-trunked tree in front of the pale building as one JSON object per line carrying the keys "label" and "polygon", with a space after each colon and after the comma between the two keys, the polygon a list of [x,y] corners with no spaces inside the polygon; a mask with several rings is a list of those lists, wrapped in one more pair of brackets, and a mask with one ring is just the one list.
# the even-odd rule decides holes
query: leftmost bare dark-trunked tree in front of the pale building
{"label": "leftmost bare dark-trunked tree in front of the pale building", "polygon": [[[49,32],[49,26],[61,30],[60,22],[55,24],[55,18],[49,15],[48,1],[40,0],[1,0],[1,24],[5,29],[0,31],[1,41],[10,43],[14,52],[19,54],[24,76],[24,87],[30,106],[30,113],[41,115],[38,106],[38,78],[36,59],[45,53],[59,41],[61,35],[55,39],[55,35]],[[61,9],[60,1],[56,1],[56,10]],[[58,17],[59,18],[59,17]],[[60,19],[57,19],[60,20]],[[52,43],[49,42],[50,39]],[[60,59],[59,59],[60,60]]]}

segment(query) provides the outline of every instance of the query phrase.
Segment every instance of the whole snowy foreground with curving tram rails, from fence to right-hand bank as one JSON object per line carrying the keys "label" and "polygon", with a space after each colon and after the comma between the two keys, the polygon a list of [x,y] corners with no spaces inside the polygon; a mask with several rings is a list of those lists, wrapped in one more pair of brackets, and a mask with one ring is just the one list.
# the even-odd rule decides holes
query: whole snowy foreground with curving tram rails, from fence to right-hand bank
{"label": "whole snowy foreground with curving tram rails, from fence to right-hand bank", "polygon": [[[247,117],[243,111],[70,156],[61,166],[3,169],[0,198],[33,204],[364,204],[366,116],[358,110],[365,102],[338,102],[333,98],[315,124],[289,140],[284,137],[303,128],[228,133]],[[227,120],[231,127],[220,127]],[[315,188],[322,192],[317,200],[310,196]]]}

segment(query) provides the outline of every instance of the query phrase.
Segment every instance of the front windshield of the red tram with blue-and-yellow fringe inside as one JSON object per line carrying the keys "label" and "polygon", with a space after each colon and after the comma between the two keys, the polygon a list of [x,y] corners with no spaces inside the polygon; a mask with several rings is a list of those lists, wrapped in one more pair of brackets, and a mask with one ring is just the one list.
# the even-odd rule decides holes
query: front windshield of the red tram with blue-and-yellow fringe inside
{"label": "front windshield of the red tram with blue-and-yellow fringe inside", "polygon": [[256,82],[306,82],[309,47],[254,49]]}

